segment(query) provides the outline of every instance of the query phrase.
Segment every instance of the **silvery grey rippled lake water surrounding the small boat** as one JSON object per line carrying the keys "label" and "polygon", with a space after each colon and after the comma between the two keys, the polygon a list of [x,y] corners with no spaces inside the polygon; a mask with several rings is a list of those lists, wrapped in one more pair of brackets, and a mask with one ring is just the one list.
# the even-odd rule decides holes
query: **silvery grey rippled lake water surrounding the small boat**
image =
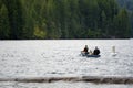
{"label": "silvery grey rippled lake water surrounding the small boat", "polygon": [[[101,57],[80,55],[98,46]],[[115,46],[116,56],[112,56]],[[0,41],[0,78],[127,76],[133,77],[133,40]],[[0,88],[132,88],[133,85],[90,82],[1,81]]]}

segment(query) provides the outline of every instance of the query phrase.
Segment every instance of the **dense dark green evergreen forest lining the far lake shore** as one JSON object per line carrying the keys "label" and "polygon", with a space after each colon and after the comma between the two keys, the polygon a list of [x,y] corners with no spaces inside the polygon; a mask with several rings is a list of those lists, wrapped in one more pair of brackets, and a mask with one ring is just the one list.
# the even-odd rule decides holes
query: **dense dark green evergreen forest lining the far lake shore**
{"label": "dense dark green evergreen forest lining the far lake shore", "polygon": [[0,40],[129,38],[133,9],[120,2],[0,0]]}

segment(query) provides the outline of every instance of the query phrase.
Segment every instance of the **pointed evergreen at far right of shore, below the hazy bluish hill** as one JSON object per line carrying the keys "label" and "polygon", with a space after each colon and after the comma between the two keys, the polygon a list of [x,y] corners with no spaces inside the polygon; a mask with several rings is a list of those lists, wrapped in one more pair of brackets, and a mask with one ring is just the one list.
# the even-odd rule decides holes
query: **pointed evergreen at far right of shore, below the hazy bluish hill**
{"label": "pointed evergreen at far right of shore, below the hazy bluish hill", "polygon": [[130,37],[130,20],[125,9],[122,9],[115,18],[115,35],[117,37]]}

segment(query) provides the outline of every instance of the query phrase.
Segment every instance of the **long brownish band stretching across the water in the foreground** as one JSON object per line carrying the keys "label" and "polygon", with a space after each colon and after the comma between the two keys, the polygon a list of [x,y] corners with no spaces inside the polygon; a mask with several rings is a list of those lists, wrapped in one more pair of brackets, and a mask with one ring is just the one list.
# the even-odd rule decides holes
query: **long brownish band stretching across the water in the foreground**
{"label": "long brownish band stretching across the water in the foreground", "polygon": [[84,81],[93,84],[133,84],[133,77],[116,76],[82,76],[82,77],[34,77],[34,78],[0,78],[0,81],[18,82],[53,82],[53,81]]}

